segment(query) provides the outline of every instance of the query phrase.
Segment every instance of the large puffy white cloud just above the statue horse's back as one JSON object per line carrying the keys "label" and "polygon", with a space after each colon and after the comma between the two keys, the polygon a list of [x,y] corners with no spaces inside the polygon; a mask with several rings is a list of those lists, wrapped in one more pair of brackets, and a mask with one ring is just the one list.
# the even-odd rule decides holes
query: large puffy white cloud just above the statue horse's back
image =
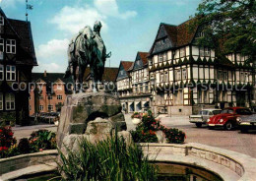
{"label": "large puffy white cloud just above the statue horse's back", "polygon": [[50,23],[56,24],[59,30],[74,34],[87,25],[93,27],[97,20],[102,23],[102,30],[106,31],[105,19],[106,17],[98,13],[96,9],[88,6],[80,8],[65,6],[53,17]]}

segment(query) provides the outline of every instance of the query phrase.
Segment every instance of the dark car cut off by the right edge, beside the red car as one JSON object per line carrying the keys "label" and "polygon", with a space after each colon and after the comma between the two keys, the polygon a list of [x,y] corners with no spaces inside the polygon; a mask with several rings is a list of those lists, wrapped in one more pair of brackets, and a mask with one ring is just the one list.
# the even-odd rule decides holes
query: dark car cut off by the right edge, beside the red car
{"label": "dark car cut off by the right edge, beside the red car", "polygon": [[236,118],[236,121],[242,133],[246,133],[248,130],[256,130],[256,113],[240,115]]}

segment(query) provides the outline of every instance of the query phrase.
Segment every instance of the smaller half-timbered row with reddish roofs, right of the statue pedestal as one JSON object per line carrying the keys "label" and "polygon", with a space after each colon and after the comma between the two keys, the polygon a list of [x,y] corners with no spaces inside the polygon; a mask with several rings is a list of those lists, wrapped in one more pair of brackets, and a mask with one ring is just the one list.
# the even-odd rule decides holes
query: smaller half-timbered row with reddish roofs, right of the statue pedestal
{"label": "smaller half-timbered row with reddish roofs, right of the statue pedestal", "polygon": [[116,84],[125,112],[145,111],[150,107],[148,55],[138,52],[134,62],[120,63]]}

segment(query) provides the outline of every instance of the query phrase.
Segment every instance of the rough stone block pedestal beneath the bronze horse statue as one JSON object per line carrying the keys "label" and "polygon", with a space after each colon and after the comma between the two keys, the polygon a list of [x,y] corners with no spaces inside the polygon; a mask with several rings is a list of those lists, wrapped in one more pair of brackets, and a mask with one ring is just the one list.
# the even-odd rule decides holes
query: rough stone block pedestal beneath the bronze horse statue
{"label": "rough stone block pedestal beneath the bronze horse statue", "polygon": [[76,150],[78,138],[88,138],[95,143],[105,139],[115,128],[118,132],[126,130],[121,108],[117,97],[104,92],[67,96],[57,130],[58,148],[63,151],[64,144]]}

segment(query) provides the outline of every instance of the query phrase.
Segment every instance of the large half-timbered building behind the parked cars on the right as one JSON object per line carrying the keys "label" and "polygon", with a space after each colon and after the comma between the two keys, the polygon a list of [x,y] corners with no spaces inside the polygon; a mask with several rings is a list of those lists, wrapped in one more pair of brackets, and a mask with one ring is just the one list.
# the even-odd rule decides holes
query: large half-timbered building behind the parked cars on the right
{"label": "large half-timbered building behind the parked cars on the right", "polygon": [[160,24],[149,55],[154,111],[189,115],[203,107],[249,107],[254,82],[248,56],[217,56],[197,46],[204,33],[189,30],[189,23]]}

